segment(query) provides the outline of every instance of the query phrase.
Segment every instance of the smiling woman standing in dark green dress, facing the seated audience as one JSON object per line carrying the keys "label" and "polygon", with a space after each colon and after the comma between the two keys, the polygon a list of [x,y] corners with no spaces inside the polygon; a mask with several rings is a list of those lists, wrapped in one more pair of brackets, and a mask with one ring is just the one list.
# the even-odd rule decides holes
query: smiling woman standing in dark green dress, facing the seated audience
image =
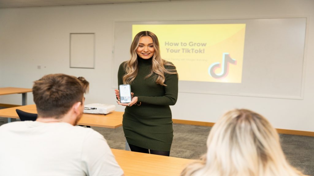
{"label": "smiling woman standing in dark green dress, facing the seated audience", "polygon": [[130,48],[131,58],[118,71],[118,85],[130,84],[132,101],[126,106],[123,131],[131,151],[170,155],[173,138],[170,105],[178,96],[176,67],[160,57],[157,36],[149,31],[139,32]]}

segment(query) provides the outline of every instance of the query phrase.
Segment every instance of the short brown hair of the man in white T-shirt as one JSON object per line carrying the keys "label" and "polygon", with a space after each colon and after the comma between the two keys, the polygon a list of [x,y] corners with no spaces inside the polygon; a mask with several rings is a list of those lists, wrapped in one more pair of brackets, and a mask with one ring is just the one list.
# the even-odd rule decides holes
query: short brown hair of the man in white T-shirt
{"label": "short brown hair of the man in white T-shirt", "polygon": [[65,74],[45,75],[34,81],[33,96],[41,117],[61,118],[76,102],[82,102],[89,82]]}

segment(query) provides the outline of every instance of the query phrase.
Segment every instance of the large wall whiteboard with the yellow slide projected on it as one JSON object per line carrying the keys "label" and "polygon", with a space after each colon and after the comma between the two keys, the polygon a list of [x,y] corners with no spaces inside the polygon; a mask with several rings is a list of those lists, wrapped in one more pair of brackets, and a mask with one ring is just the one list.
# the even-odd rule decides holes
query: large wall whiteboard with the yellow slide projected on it
{"label": "large wall whiteboard with the yellow slide projected on it", "polygon": [[303,98],[306,18],[115,22],[114,88],[143,30],[177,67],[179,92]]}

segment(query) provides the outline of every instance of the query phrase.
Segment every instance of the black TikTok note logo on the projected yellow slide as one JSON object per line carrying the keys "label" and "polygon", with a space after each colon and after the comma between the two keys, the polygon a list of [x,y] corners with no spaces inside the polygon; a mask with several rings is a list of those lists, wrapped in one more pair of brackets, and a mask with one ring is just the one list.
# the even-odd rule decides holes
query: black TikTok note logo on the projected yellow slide
{"label": "black TikTok note logo on the projected yellow slide", "polygon": [[[229,73],[229,63],[236,65],[236,60],[232,59],[229,53],[223,53],[222,54],[222,67],[219,62],[215,62],[209,66],[208,74],[211,77],[216,78],[216,79],[224,78]],[[217,68],[221,68],[221,72],[219,74],[215,73],[215,70]]]}

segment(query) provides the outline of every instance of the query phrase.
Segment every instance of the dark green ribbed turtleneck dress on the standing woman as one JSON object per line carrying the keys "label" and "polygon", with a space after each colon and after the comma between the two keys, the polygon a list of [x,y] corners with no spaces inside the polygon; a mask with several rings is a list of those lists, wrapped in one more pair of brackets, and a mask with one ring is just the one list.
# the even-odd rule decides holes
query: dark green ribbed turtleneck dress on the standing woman
{"label": "dark green ribbed turtleneck dress on the standing woman", "polygon": [[[118,84],[123,84],[126,73],[123,62],[118,71]],[[175,69],[166,66],[166,69]],[[170,105],[176,104],[178,97],[178,76],[165,74],[165,84],[156,84],[154,73],[145,77],[152,69],[152,58],[138,57],[138,74],[133,80],[131,91],[138,97],[138,104],[126,107],[123,114],[123,131],[129,144],[157,151],[170,151],[173,129]]]}

